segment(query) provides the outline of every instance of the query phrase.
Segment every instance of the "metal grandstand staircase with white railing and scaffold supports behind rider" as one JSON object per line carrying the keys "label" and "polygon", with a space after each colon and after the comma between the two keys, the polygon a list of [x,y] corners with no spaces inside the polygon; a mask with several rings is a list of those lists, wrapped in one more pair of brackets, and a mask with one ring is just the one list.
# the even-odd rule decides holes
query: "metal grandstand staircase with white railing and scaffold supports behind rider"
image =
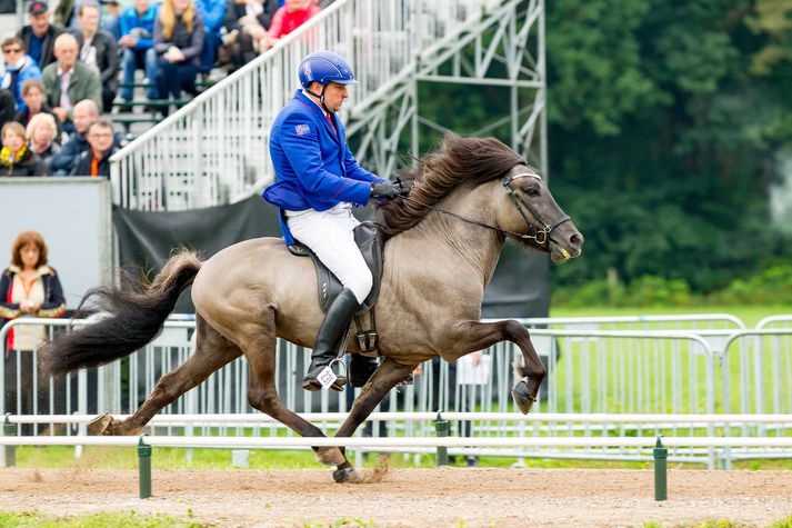
{"label": "metal grandstand staircase with white railing and scaffold supports behind rider", "polygon": [[[233,202],[273,178],[270,126],[305,54],[329,49],[358,78],[344,104],[358,160],[382,176],[418,155],[419,82],[508,89],[512,148],[547,170],[543,0],[337,0],[274,48],[156,124],[111,159],[113,202],[178,211]],[[450,104],[450,111],[453,108]]]}

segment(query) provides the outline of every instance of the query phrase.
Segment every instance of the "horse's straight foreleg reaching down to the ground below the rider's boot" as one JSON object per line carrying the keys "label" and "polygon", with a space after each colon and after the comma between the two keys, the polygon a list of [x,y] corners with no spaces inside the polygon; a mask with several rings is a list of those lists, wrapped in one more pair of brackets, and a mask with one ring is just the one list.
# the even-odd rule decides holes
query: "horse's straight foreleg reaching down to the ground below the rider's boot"
{"label": "horse's straight foreleg reaching down to the ground below the rider's boot", "polygon": [[[385,358],[371,376],[369,382],[365,383],[360,396],[354,400],[354,404],[352,404],[349,416],[347,416],[347,419],[341,424],[338,431],[335,431],[335,436],[351,437],[358,427],[371,415],[371,411],[382,401],[382,398],[384,398],[399,381],[412,372],[415,367],[415,365],[405,367],[397,363],[392,359]],[[342,452],[344,451],[343,448],[341,450]],[[342,466],[339,466],[333,472],[333,478],[337,482],[358,480],[354,468],[349,460]]]}

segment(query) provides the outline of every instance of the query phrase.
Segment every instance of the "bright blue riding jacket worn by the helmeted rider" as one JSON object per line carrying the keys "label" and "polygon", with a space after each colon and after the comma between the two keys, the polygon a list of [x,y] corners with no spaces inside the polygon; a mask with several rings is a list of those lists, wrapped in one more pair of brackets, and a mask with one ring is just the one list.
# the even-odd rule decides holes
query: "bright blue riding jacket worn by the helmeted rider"
{"label": "bright blue riding jacket worn by the helmeted rider", "polygon": [[[371,196],[371,182],[382,181],[362,169],[347,146],[347,133],[338,116],[325,113],[302,90],[280,111],[270,135],[270,157],[275,183],[263,197],[281,210],[324,211],[341,202],[363,206]],[[293,239],[281,215],[287,245]]]}

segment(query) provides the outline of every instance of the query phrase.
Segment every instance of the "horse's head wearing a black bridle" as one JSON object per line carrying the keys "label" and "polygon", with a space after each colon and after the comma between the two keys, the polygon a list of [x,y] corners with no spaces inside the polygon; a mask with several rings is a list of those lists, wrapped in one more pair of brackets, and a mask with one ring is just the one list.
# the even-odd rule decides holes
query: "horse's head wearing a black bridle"
{"label": "horse's head wearing a black bridle", "polygon": [[550,253],[554,262],[579,257],[583,236],[555,203],[550,189],[532,168],[518,165],[503,178],[498,223],[518,240]]}

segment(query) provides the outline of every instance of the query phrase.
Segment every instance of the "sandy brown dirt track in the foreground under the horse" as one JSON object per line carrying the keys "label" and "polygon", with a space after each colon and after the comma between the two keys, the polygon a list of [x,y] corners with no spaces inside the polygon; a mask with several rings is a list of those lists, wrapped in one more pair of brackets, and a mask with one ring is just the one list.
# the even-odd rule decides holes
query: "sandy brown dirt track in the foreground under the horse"
{"label": "sandy brown dirt track in the foreground under the horse", "polygon": [[[334,484],[330,470],[0,469],[0,510],[58,516],[137,510],[217,526],[663,526],[729,519],[768,526],[792,515],[792,471],[671,470],[669,500],[651,470],[392,469]],[[349,524],[338,522],[348,519]]]}

